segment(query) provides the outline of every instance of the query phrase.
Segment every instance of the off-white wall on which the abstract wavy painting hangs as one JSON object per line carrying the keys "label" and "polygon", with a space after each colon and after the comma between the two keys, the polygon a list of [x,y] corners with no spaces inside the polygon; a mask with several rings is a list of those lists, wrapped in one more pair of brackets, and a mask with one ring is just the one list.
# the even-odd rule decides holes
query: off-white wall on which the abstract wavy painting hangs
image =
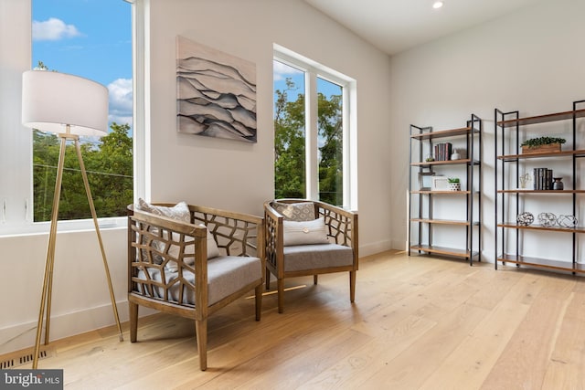
{"label": "off-white wall on which the abstract wavy painting hangs", "polygon": [[[261,215],[262,202],[273,194],[272,44],[277,43],[356,79],[360,254],[390,248],[392,185],[388,149],[392,137],[388,121],[388,56],[301,0],[151,3],[153,200],[185,199]],[[4,25],[10,31],[25,25],[15,18],[15,26],[9,26],[11,20]],[[257,143],[176,133],[177,35],[256,63]],[[3,66],[5,58],[3,52]],[[24,65],[19,65],[22,69],[10,71],[13,77],[20,78],[28,66],[25,58]],[[20,114],[16,115],[19,118]],[[0,123],[2,132],[8,131],[5,122]],[[102,236],[121,320],[126,321],[126,232],[123,228],[110,229],[102,231]],[[34,343],[46,248],[44,234],[0,237],[0,353]],[[113,323],[103,274],[92,231],[58,235],[51,340]]]}

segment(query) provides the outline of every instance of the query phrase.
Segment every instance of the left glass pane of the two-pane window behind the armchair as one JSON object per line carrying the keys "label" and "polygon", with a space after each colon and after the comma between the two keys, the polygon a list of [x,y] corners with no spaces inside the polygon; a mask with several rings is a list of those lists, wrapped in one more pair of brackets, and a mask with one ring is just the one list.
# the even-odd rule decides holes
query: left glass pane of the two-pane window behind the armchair
{"label": "left glass pane of the two-pane window behind the armchair", "polygon": [[274,196],[306,197],[304,72],[274,60]]}

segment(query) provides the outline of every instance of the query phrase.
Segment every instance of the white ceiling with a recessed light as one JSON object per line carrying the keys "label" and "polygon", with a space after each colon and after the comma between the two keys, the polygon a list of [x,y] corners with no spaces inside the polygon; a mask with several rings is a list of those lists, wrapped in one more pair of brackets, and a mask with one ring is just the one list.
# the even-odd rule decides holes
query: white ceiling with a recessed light
{"label": "white ceiling with a recessed light", "polygon": [[544,0],[304,0],[389,55]]}

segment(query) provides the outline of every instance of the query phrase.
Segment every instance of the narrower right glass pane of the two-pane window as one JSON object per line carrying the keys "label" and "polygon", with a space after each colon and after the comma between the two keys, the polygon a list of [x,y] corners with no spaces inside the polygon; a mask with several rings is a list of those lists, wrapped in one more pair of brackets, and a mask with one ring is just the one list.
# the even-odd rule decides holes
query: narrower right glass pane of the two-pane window
{"label": "narrower right glass pane of the two-pane window", "polygon": [[319,200],[335,206],[344,203],[343,88],[317,78]]}

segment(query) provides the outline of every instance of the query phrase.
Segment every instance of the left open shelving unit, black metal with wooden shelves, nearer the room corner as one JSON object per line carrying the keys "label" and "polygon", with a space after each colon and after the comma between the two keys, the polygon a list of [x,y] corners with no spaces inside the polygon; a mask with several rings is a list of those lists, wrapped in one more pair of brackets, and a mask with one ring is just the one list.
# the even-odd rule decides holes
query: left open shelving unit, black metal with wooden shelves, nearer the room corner
{"label": "left open shelving unit, black metal with wooden shelves, nearer the room corner", "polygon": [[[408,206],[408,252],[465,258],[473,265],[473,258],[481,261],[481,160],[483,122],[472,114],[463,128],[433,131],[432,127],[410,125],[410,180]],[[444,160],[427,161],[435,145],[452,142],[461,158],[452,160],[450,153]],[[440,174],[460,176],[464,188],[450,191],[423,184],[424,177]],[[441,176],[443,177],[443,176]],[[444,176],[446,177],[446,176]],[[445,205],[463,207],[462,218],[437,216],[436,209]],[[455,213],[456,214],[456,213]],[[435,238],[439,229],[455,228],[461,233],[459,245],[445,244]],[[463,229],[463,231],[461,231]]]}

